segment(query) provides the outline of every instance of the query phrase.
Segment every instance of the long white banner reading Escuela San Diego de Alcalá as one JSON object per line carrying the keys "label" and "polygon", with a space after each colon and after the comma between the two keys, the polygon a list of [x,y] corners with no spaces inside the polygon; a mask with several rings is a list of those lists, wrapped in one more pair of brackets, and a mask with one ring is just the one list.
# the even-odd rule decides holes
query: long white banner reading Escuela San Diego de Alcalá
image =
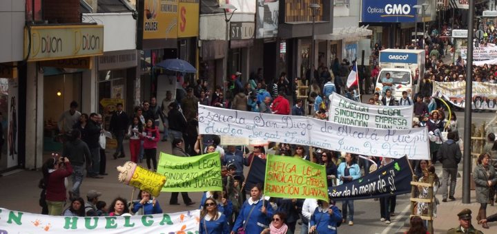
{"label": "long white banner reading Escuela San Diego de Alcal\u00e1", "polygon": [[199,134],[255,138],[288,144],[409,159],[428,159],[426,127],[374,129],[304,116],[282,116],[199,105]]}

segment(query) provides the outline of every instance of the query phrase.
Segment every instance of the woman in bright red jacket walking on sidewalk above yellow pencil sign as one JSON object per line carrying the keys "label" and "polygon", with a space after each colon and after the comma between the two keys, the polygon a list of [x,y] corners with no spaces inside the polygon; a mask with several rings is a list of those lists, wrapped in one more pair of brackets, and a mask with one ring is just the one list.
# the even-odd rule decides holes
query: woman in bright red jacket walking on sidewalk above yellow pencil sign
{"label": "woman in bright red jacket walking on sidewalk above yellow pencil sign", "polygon": [[157,170],[157,142],[160,140],[159,128],[155,127],[154,120],[148,118],[146,127],[140,137],[144,140],[144,151],[147,159],[147,167],[150,170],[150,159],[153,163],[153,170]]}

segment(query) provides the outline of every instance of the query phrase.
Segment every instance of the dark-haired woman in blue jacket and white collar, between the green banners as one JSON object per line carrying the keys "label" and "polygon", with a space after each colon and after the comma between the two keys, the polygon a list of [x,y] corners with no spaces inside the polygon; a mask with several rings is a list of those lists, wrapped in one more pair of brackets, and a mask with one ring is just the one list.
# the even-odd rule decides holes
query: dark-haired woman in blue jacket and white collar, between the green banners
{"label": "dark-haired woman in blue jacket and white collar, between the green banners", "polygon": [[261,196],[262,185],[253,185],[251,198],[242,205],[231,234],[237,233],[239,228],[244,229],[245,233],[261,233],[269,227],[269,221],[273,217],[273,207]]}

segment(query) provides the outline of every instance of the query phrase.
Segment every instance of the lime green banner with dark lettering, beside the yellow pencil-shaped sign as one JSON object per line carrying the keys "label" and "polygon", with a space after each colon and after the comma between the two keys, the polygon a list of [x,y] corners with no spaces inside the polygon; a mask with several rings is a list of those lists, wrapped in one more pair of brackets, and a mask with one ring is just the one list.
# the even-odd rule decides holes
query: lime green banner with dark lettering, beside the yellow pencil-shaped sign
{"label": "lime green banner with dark lettering, beside the yellow pencil-shaped sign", "polygon": [[217,152],[192,157],[161,152],[157,173],[166,176],[162,192],[222,191],[221,159]]}

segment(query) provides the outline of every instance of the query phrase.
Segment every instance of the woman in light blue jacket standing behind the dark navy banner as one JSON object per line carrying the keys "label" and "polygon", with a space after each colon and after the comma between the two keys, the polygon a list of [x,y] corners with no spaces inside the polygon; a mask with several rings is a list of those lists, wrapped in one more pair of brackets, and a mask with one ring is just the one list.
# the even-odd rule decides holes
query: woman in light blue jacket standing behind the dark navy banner
{"label": "woman in light blue jacket standing behind the dark navy banner", "polygon": [[[338,185],[347,184],[352,180],[357,180],[361,177],[359,165],[355,160],[355,155],[347,153],[345,155],[345,162],[338,165]],[[349,208],[349,225],[353,225],[353,200],[343,200],[342,202],[342,215],[345,222],[347,220],[347,207]]]}

